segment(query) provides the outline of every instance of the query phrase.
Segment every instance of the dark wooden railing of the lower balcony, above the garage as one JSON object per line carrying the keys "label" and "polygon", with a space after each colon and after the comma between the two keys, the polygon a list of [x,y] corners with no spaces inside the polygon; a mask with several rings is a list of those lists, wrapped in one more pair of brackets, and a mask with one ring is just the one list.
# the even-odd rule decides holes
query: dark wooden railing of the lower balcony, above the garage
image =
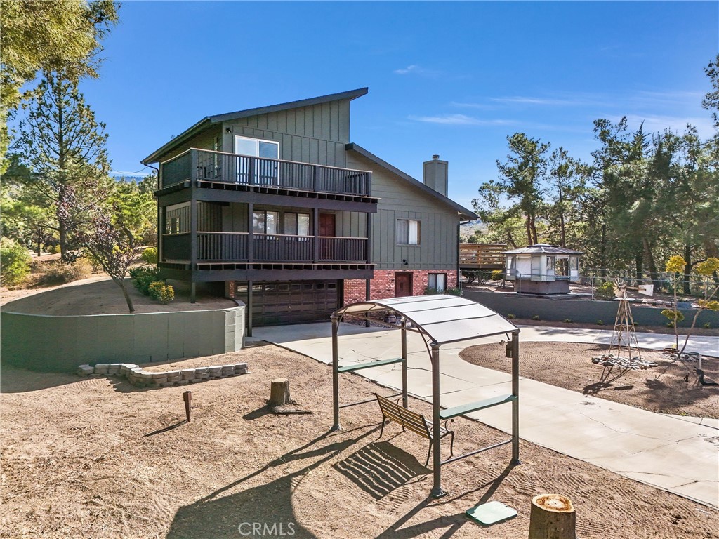
{"label": "dark wooden railing of the lower balcony, above the garage", "polygon": [[[164,234],[162,261],[189,261],[191,241],[189,233]],[[197,262],[367,262],[367,239],[198,232]]]}

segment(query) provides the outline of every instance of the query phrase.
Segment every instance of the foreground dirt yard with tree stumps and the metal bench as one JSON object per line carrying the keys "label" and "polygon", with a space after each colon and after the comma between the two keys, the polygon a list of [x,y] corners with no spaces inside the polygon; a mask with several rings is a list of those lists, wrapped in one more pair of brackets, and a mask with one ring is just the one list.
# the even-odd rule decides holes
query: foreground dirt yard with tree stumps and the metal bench
{"label": "foreground dirt yard with tree stumps and the metal bench", "polygon": [[[272,537],[518,539],[531,497],[558,492],[574,502],[580,538],[719,538],[716,510],[525,442],[520,466],[508,466],[509,445],[444,466],[449,495],[432,499],[426,440],[395,424],[377,439],[374,403],[342,409],[342,430],[328,432],[326,365],[272,345],[173,364],[236,361],[249,374],[156,390],[4,367],[0,537],[237,538],[259,522],[275,525]],[[312,414],[267,412],[278,377]],[[343,402],[388,394],[354,374],[341,389]],[[508,438],[461,418],[452,428],[455,454]],[[467,520],[489,500],[518,516],[490,528]]]}

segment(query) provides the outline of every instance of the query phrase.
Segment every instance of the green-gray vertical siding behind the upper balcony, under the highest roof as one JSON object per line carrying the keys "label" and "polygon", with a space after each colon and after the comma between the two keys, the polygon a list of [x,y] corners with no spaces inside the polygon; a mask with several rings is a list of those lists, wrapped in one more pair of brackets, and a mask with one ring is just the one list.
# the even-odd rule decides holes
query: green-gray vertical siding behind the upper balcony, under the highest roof
{"label": "green-gray vertical siding behind the upper balcony, under the highest roof", "polygon": [[224,152],[234,152],[234,135],[240,135],[279,142],[282,160],[344,167],[349,100],[225,121],[221,132]]}

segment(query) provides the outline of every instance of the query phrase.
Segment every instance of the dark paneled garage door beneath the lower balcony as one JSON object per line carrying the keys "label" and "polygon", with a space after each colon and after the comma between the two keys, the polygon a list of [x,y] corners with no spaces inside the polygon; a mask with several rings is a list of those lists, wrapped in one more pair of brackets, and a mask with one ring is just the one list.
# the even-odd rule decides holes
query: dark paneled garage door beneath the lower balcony
{"label": "dark paneled garage door beneath the lower balcony", "polygon": [[[237,297],[247,301],[247,283],[237,283]],[[340,286],[333,281],[252,283],[252,325],[329,321],[339,308]]]}

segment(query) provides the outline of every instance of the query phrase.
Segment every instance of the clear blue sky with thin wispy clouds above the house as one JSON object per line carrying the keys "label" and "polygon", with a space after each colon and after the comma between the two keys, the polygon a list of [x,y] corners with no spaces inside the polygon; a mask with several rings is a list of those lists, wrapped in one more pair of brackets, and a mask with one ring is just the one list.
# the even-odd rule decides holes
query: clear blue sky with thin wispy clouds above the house
{"label": "clear blue sky with thin wispy clouds above the house", "polygon": [[713,133],[715,1],[124,1],[119,16],[82,89],[120,172],[203,116],[364,86],[352,142],[415,178],[439,154],[468,207],[515,132],[584,159],[597,118]]}

